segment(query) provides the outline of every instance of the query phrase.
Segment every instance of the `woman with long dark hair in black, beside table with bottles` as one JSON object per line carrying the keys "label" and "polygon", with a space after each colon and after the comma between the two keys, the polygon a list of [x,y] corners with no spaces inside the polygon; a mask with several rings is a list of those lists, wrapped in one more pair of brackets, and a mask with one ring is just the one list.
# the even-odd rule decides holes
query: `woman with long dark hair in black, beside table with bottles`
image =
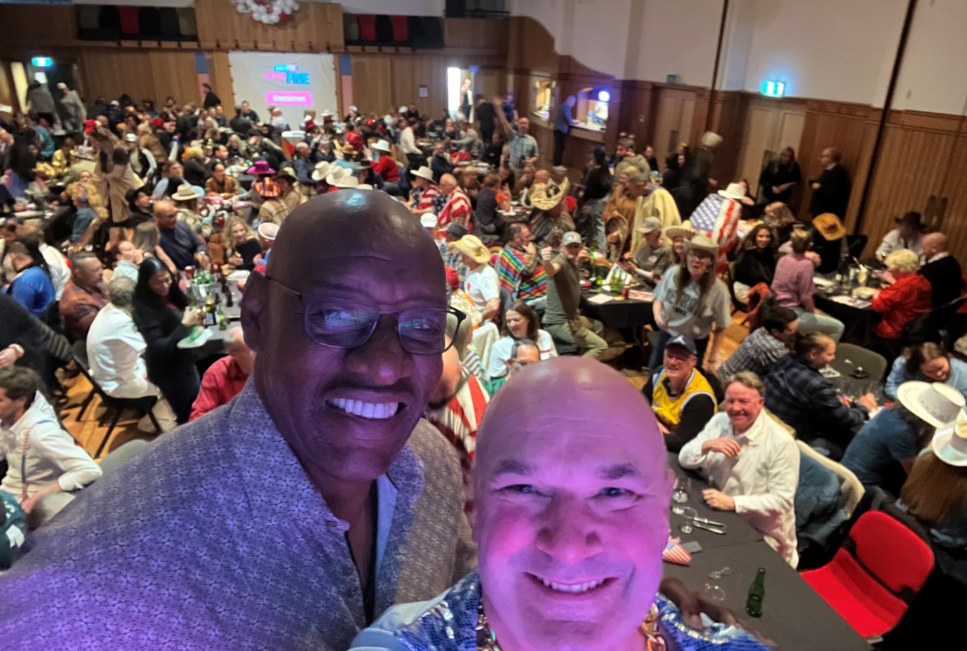
{"label": "woman with long dark hair in black, beside table with bottles", "polygon": [[200,313],[156,257],[146,257],[137,270],[133,304],[134,325],[148,344],[148,379],[161,389],[178,423],[187,423],[200,380],[194,356],[178,342],[191,334]]}

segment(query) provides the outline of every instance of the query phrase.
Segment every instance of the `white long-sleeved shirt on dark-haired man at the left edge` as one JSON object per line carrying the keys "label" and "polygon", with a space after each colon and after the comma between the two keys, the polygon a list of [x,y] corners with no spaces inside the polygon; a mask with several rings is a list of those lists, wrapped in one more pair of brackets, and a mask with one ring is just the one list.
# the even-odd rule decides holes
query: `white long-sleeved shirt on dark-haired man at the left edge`
{"label": "white long-sleeved shirt on dark-haired man at the left edge", "polygon": [[[8,465],[0,490],[14,495],[17,502],[22,501],[24,484],[30,497],[54,482],[61,490],[76,490],[102,475],[101,466],[74,442],[71,434],[61,429],[53,408],[40,392],[16,423],[10,427],[0,425],[0,431],[0,447]],[[25,441],[28,433],[30,438]]]}

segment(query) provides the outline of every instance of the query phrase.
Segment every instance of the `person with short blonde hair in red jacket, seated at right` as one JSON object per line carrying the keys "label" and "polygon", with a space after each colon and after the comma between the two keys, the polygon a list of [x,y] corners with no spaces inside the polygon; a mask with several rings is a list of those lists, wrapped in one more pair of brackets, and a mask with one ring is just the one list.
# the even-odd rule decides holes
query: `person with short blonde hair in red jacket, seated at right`
{"label": "person with short blonde hair in red jacket, seated at right", "polygon": [[917,253],[899,249],[884,260],[887,271],[880,275],[883,288],[876,292],[870,306],[881,314],[873,328],[885,340],[902,340],[903,327],[920,314],[930,311],[930,282],[917,273]]}

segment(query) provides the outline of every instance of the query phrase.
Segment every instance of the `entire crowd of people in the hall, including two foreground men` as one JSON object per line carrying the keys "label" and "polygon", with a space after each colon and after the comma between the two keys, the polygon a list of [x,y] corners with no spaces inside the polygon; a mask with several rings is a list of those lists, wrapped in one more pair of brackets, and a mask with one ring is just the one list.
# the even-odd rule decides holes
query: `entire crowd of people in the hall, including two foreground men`
{"label": "entire crowd of people in the hall, including two foreground men", "polygon": [[[263,122],[247,102],[229,119],[217,97],[123,96],[87,107],[52,151],[49,116],[3,125],[0,495],[20,533],[0,631],[396,649],[439,643],[455,618],[438,648],[482,630],[508,648],[619,648],[655,635],[639,631],[650,607],[653,624],[701,628],[699,606],[732,617],[675,581],[659,592],[664,451],[796,567],[797,439],[898,497],[967,577],[967,366],[914,327],[930,334],[961,294],[942,233],[909,213],[868,261],[895,401],[844,398],[822,371],[845,326],[814,300],[814,277],[855,257],[835,149],[807,181],[806,225],[789,206],[803,183],[791,148],[758,197],[713,192],[715,133],[663,170],[623,136],[571,184],[538,167],[511,94],[467,99],[455,120],[351,106],[307,110],[294,130],[273,106]],[[18,219],[28,199],[59,205],[70,235]],[[700,226],[710,199],[747,218],[743,238]],[[641,392],[603,364],[621,366],[640,333],[606,328],[582,292],[605,268],[653,298]],[[215,360],[179,345],[202,317],[187,293],[199,270],[245,272]],[[726,357],[734,302],[754,319]],[[105,395],[179,426],[103,477],[58,417],[78,350]],[[68,492],[57,515],[50,498]],[[18,524],[35,511],[40,528]],[[84,617],[48,599],[76,573]],[[568,601],[583,592],[597,598]],[[202,607],[171,627],[187,600]],[[548,625],[554,613],[567,621]]]}

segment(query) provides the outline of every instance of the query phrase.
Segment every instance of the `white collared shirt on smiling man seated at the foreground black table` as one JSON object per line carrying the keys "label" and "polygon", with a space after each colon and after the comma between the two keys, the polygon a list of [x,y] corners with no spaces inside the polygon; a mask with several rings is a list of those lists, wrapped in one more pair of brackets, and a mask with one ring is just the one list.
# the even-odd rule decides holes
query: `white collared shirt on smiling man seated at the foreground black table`
{"label": "white collared shirt on smiling man seated at the foreground black table", "polygon": [[[702,454],[702,443],[731,438],[742,446],[737,459],[719,452]],[[796,551],[796,511],[799,486],[799,448],[796,441],[765,409],[743,434],[736,435],[728,414],[718,412],[705,429],[678,455],[683,468],[697,468],[714,488],[735,500],[735,511],[763,534],[792,567]]]}

